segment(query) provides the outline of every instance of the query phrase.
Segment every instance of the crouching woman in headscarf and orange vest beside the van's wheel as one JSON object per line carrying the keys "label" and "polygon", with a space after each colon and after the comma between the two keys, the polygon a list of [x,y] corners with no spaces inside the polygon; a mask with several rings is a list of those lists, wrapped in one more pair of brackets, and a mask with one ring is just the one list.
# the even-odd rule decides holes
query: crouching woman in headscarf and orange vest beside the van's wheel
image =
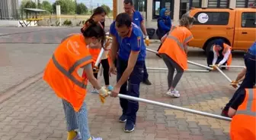
{"label": "crouching woman in headscarf and orange vest beside the van's wheel", "polygon": [[[232,48],[227,45],[222,39],[216,39],[213,45],[213,51],[207,55],[208,67],[213,65],[214,67],[220,67],[221,65],[230,65],[232,62]],[[213,67],[213,68],[214,68]],[[226,69],[222,67],[222,70]]]}

